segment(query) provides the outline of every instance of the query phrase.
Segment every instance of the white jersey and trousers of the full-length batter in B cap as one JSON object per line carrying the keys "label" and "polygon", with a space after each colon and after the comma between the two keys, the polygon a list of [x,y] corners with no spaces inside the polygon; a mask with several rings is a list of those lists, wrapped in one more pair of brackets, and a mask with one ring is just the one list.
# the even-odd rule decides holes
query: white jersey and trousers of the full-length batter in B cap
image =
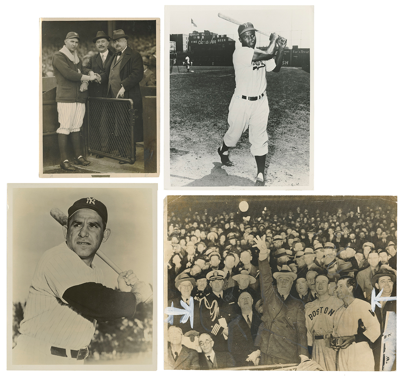
{"label": "white jersey and trousers of the full-length batter in B cap", "polygon": [[229,105],[229,129],[223,137],[223,142],[228,147],[236,146],[243,132],[249,128],[251,154],[265,155],[268,153],[269,115],[265,74],[274,70],[276,63],[275,59],[253,62],[253,55],[254,49],[250,47],[238,48],[233,53],[236,89]]}

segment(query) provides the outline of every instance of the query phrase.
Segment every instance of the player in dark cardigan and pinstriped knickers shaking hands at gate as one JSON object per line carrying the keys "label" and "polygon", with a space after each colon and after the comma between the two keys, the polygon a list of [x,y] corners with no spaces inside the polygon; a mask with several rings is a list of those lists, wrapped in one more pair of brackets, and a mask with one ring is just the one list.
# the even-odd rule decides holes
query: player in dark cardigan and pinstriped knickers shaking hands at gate
{"label": "player in dark cardigan and pinstriped knickers shaking hands at gate", "polygon": [[60,123],[60,127],[56,130],[61,158],[60,168],[67,171],[76,170],[69,162],[68,138],[73,145],[74,164],[82,166],[90,164],[90,161],[81,155],[80,129],[86,112],[88,81],[97,79],[97,76],[83,74],[83,63],[76,52],[79,41],[80,37],[76,32],[67,33],[65,45],[53,55],[52,59]]}

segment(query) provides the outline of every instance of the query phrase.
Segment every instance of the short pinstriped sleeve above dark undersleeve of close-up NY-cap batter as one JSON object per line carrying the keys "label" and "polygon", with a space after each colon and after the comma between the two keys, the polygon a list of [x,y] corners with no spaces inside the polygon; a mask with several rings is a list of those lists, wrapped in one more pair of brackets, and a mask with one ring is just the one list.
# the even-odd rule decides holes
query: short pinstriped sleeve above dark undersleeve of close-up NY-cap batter
{"label": "short pinstriped sleeve above dark undersleeve of close-up NY-cap batter", "polygon": [[93,274],[94,270],[71,251],[58,253],[49,258],[44,265],[42,275],[53,295],[67,303],[63,299],[63,293],[69,287],[96,282]]}

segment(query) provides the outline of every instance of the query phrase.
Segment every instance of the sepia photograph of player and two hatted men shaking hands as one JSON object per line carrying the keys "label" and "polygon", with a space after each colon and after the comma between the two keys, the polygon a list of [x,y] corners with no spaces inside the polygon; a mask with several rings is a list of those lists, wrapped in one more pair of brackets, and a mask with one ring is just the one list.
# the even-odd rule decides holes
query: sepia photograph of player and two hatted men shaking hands
{"label": "sepia photograph of player and two hatted men shaking hands", "polygon": [[40,40],[40,176],[158,176],[160,19],[42,19]]}

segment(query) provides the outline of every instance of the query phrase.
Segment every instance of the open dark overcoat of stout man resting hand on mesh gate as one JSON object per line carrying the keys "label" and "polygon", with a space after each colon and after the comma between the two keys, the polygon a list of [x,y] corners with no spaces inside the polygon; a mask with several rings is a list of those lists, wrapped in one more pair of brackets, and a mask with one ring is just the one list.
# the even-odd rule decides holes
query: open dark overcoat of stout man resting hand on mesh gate
{"label": "open dark overcoat of stout man resting hand on mesh gate", "polygon": [[[142,96],[139,82],[143,79],[143,59],[139,52],[133,51],[129,46],[126,47],[121,59],[119,75],[121,84],[125,89],[124,98],[133,100],[133,107],[142,112]],[[105,65],[105,73],[108,77],[111,68],[114,68],[112,64],[115,60],[113,56]],[[108,83],[108,91],[109,87],[110,83]]]}

